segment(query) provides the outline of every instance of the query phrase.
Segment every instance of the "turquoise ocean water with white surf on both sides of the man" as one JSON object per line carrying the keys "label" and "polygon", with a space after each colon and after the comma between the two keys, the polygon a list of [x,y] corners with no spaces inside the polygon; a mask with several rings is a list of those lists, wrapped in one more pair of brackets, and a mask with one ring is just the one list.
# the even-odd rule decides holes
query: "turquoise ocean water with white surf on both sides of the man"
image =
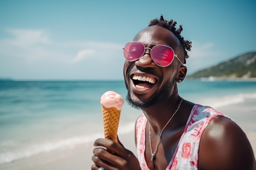
{"label": "turquoise ocean water with white surf on both sides of the man", "polygon": [[[256,82],[184,80],[179,94],[214,108],[256,99]],[[124,81],[0,82],[0,164],[42,152],[87,145],[103,135],[100,97]],[[140,110],[125,101],[118,133],[134,130]]]}

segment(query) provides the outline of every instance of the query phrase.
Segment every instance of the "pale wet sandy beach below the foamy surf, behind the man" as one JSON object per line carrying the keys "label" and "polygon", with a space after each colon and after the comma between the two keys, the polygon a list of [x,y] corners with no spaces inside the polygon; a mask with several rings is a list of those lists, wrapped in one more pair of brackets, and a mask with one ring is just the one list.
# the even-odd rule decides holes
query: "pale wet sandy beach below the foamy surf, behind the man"
{"label": "pale wet sandy beach below the foamy surf, behind the man", "polygon": [[[256,156],[256,100],[217,108],[233,119],[246,133]],[[121,122],[120,122],[121,123]],[[135,152],[134,132],[119,135],[127,149]],[[45,152],[33,157],[19,159],[0,165],[0,170],[90,170],[92,166],[92,143]]]}

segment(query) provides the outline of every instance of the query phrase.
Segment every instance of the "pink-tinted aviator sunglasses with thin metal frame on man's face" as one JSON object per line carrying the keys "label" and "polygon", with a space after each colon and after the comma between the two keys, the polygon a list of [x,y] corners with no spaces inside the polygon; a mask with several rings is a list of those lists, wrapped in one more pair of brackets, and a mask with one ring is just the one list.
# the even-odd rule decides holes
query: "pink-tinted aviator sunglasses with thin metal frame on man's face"
{"label": "pink-tinted aviator sunglasses with thin metal frame on man's face", "polygon": [[[146,49],[150,49],[148,47],[145,47],[144,44],[147,43],[133,41],[126,44],[126,46],[124,47],[124,57],[126,58],[126,60],[129,62],[134,62],[142,57]],[[160,44],[152,45],[155,46],[150,49],[150,56],[155,64],[157,64],[158,66],[166,67],[170,65],[173,62],[174,57],[179,60],[177,55],[174,54],[174,51],[171,47]],[[182,64],[180,60],[179,62]]]}

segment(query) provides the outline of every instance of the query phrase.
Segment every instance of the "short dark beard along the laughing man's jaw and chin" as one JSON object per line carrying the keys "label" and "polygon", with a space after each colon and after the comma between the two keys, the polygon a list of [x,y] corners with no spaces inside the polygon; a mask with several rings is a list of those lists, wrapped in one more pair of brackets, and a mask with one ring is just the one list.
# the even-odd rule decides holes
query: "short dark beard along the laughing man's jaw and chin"
{"label": "short dark beard along the laughing man's jaw and chin", "polygon": [[[135,101],[132,99],[132,97],[130,96],[130,91],[128,90],[127,96],[126,96],[126,101],[128,102],[128,104],[130,106],[132,106],[133,108],[136,108],[138,110],[140,109],[146,109],[146,108],[150,108],[152,106],[154,106],[155,104],[157,104],[158,102],[161,102],[162,99],[166,98],[166,94],[171,93],[171,89],[174,87],[174,84],[169,83],[166,84],[165,86],[162,87],[161,91],[158,91],[157,93],[155,93],[153,96],[151,96],[149,99],[145,100],[145,101]],[[128,87],[126,86],[126,88],[128,89]]]}

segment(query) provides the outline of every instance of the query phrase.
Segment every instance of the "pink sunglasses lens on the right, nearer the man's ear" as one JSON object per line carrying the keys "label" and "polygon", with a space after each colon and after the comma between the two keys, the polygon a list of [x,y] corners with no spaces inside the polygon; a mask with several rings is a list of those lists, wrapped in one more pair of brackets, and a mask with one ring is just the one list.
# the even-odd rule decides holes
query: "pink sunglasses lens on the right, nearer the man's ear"
{"label": "pink sunglasses lens on the right, nearer the man's ear", "polygon": [[156,45],[151,50],[152,60],[159,66],[168,66],[173,62],[174,52],[168,46]]}

